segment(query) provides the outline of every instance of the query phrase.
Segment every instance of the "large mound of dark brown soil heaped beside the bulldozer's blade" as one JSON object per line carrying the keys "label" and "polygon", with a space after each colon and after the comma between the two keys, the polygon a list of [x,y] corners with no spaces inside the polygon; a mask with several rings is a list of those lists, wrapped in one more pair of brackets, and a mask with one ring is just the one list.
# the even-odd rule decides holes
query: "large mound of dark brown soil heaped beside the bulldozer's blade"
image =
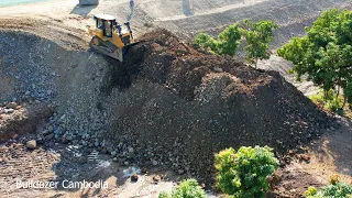
{"label": "large mound of dark brown soil heaped beside the bulldozer's blade", "polygon": [[211,182],[220,150],[270,145],[279,154],[328,125],[328,117],[276,72],[205,54],[164,30],[141,40],[101,89],[110,98],[100,103],[112,118],[109,150],[123,161]]}

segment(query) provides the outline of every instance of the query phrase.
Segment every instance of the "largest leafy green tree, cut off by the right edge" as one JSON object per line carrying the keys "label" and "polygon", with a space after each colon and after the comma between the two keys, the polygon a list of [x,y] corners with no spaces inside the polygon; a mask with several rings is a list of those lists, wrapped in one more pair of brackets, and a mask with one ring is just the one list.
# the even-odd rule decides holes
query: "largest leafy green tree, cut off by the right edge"
{"label": "largest leafy green tree, cut off by the right edge", "polygon": [[343,91],[343,109],[352,91],[352,12],[326,11],[306,31],[306,36],[294,37],[277,54],[293,62],[298,79],[307,74],[326,94],[337,88],[336,99]]}

